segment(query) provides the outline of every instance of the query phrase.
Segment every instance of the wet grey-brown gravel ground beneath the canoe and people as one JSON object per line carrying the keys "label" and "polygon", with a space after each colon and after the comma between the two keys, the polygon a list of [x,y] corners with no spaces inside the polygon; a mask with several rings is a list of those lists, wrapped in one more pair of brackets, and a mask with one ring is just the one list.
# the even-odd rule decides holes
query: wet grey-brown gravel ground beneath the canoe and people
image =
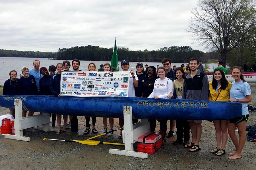
{"label": "wet grey-brown gravel ground beneath the canoe and people", "polygon": [[[256,107],[256,83],[251,83],[250,86],[252,102],[249,105]],[[9,109],[0,107],[0,115],[8,112]],[[115,119],[114,129],[118,128],[117,122],[118,120]],[[255,112],[250,113],[247,124],[256,124]],[[4,135],[0,135],[0,149],[2,150],[0,169],[255,169],[256,142],[246,141],[241,159],[229,160],[228,154],[215,156],[209,153],[212,148],[216,147],[214,125],[212,122],[203,121],[202,126],[199,152],[191,153],[182,145],[173,145],[172,142],[176,140],[174,136],[174,138],[166,138],[166,144],[154,154],[148,154],[148,159],[109,154],[110,148],[124,149],[124,146],[104,144],[92,146],[71,142],[43,141],[45,137],[85,140],[95,136],[91,132],[83,135],[85,119],[79,116],[78,133],[67,129],[66,132],[55,135],[55,132],[44,132],[36,128],[25,129],[24,136],[29,136],[30,142],[6,139]],[[97,118],[96,128],[99,131],[103,129],[102,118]],[[118,135],[119,131],[115,132],[112,137],[104,135],[94,140],[121,143],[117,139]],[[137,151],[137,144],[135,143],[134,146]],[[235,147],[229,138],[226,152],[230,153],[234,150]]]}

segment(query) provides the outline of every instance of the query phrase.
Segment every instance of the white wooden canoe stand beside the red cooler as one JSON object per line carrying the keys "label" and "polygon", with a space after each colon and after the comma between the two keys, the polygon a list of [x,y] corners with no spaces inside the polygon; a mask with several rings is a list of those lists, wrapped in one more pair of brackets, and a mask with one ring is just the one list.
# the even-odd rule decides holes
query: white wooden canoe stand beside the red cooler
{"label": "white wooden canoe stand beside the red cooler", "polygon": [[[142,120],[139,127],[135,125],[133,129],[133,116],[132,107],[123,107],[123,118],[124,118],[124,130],[123,130],[123,142],[125,143],[125,150],[120,149],[109,149],[110,154],[133,156],[138,158],[148,158],[147,153],[134,152],[133,144],[138,141],[138,137],[150,131],[150,124],[147,120]],[[144,125],[143,125],[144,124]]]}

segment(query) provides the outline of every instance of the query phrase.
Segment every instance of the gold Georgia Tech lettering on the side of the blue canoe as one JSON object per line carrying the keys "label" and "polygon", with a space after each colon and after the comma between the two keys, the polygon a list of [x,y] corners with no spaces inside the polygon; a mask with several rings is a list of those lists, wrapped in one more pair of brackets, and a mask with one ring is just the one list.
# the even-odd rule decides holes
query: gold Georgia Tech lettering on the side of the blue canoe
{"label": "gold Georgia Tech lettering on the side of the blue canoe", "polygon": [[167,101],[138,101],[137,105],[138,107],[160,107],[161,109],[166,108],[166,107],[178,107],[178,108],[207,108],[207,102],[167,102]]}

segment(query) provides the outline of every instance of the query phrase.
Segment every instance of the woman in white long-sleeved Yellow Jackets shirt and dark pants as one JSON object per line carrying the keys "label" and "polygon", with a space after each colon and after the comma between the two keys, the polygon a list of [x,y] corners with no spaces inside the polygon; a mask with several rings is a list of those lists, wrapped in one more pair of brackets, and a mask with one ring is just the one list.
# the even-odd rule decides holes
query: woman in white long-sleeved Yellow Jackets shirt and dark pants
{"label": "woman in white long-sleeved Yellow Jackets shirt and dark pants", "polygon": [[[148,96],[148,98],[154,98],[155,100],[163,98],[163,99],[171,99],[173,96],[173,82],[169,78],[165,76],[166,69],[164,67],[158,67],[157,74],[159,78],[154,82],[154,90]],[[164,145],[165,134],[167,130],[167,120],[158,120],[160,124],[160,132],[162,135],[162,145]]]}

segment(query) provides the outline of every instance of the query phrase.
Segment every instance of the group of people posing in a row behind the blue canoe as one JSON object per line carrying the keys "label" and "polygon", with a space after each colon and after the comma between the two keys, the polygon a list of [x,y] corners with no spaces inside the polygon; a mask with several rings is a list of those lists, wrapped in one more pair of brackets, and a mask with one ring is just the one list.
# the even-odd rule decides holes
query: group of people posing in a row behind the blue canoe
{"label": "group of people posing in a row behind the blue canoe", "polygon": [[[36,64],[35,64],[36,63]],[[177,67],[175,71],[170,69],[171,59],[165,58],[162,61],[163,67],[148,66],[146,73],[142,73],[143,63],[137,63],[136,73],[130,71],[130,83],[128,97],[149,97],[154,99],[165,98],[177,98],[177,99],[194,99],[194,100],[212,100],[212,101],[232,101],[242,103],[242,115],[238,118],[232,118],[229,120],[214,120],[214,126],[216,130],[216,148],[211,150],[211,153],[221,156],[225,154],[225,145],[228,140],[228,134],[232,139],[236,152],[230,153],[229,159],[241,158],[242,149],[246,141],[245,128],[247,124],[247,118],[249,116],[247,103],[251,102],[251,90],[247,82],[245,82],[242,69],[240,67],[232,67],[232,78],[234,82],[230,83],[226,80],[224,71],[221,68],[217,68],[213,72],[213,80],[208,82],[207,75],[198,69],[199,60],[197,58],[191,58],[189,61],[190,72],[185,76],[185,71],[182,67]],[[34,68],[39,69],[40,62],[34,61]],[[39,66],[38,66],[39,65]],[[80,61],[74,59],[72,61],[73,71],[82,71],[79,69]],[[121,68],[123,71],[129,71],[129,61],[122,60]],[[52,66],[50,66],[52,67]],[[10,71],[10,79],[4,84],[3,95],[60,95],[60,82],[61,72],[70,71],[71,64],[65,60],[63,63],[57,63],[55,71],[50,70],[51,75],[48,73],[46,67],[40,68],[39,71],[39,87],[37,88],[37,80],[33,75],[30,75],[30,71],[27,67],[22,68],[23,76],[20,79],[17,77],[15,70]],[[34,69],[34,70],[35,70]],[[111,72],[111,66],[109,63],[103,65],[103,71]],[[169,71],[167,71],[169,70]],[[97,71],[94,63],[89,63],[87,71]],[[36,72],[37,73],[37,72]],[[38,76],[38,75],[36,75]],[[174,80],[175,79],[175,80]],[[173,81],[172,81],[173,80]],[[26,111],[25,111],[26,112]],[[14,109],[10,109],[10,114],[14,115]],[[33,115],[29,113],[28,116]],[[22,113],[22,116],[26,116],[26,113]],[[55,118],[56,119],[56,118]],[[56,134],[60,134],[66,130],[67,116],[63,115],[64,124],[61,130],[61,114],[57,114],[58,131]],[[71,119],[71,118],[70,118]],[[84,134],[90,132],[90,117],[85,116],[86,129]],[[135,120],[136,121],[136,120]],[[160,132],[162,134],[162,145],[166,141],[167,120],[158,120],[160,124]],[[175,122],[175,120],[172,120]],[[149,120],[151,132],[155,131],[156,120]],[[171,122],[171,121],[170,121]],[[202,134],[202,120],[176,120],[177,128],[177,140],[173,144],[183,144],[185,148],[190,148],[189,152],[196,152],[200,150],[199,141]],[[95,128],[96,117],[92,117],[92,132],[98,133]],[[107,118],[103,118],[104,129],[103,133],[107,132]],[[109,118],[110,131],[108,136],[113,135],[113,118]],[[175,123],[174,123],[175,124]],[[53,122],[55,125],[55,121]],[[123,127],[123,119],[119,119],[119,126]],[[171,123],[173,126],[173,123]],[[175,125],[174,125],[175,126]],[[238,128],[239,140],[235,134],[235,130]],[[171,130],[172,133],[174,132]],[[192,133],[192,141],[189,143],[190,131]],[[170,133],[170,132],[169,132]],[[119,139],[122,139],[122,131],[120,130]],[[183,142],[184,138],[184,142]],[[221,145],[222,141],[222,145]]]}

